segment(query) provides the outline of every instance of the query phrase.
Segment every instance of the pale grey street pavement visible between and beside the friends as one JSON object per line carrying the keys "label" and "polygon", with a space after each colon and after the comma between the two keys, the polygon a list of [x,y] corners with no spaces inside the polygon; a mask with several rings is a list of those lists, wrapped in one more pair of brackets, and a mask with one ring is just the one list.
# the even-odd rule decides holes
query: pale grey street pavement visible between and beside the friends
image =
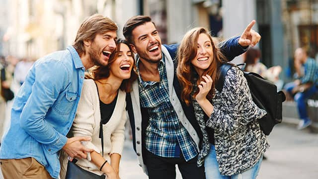
{"label": "pale grey street pavement visible between and beside the friends", "polygon": [[[271,146],[265,153],[267,160],[262,163],[258,179],[318,178],[318,134],[283,123],[275,126],[268,140]],[[128,140],[125,142],[121,171],[122,179],[147,179]],[[177,179],[181,179],[180,175]]]}

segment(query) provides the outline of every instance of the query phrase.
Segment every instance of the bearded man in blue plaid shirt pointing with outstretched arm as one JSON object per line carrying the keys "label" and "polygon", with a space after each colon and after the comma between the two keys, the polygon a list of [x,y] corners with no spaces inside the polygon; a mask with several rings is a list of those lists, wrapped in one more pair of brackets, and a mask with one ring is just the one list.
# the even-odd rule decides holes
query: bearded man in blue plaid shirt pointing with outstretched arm
{"label": "bearded man in blue plaid shirt pointing with outstretched arm", "polygon": [[[183,179],[204,179],[204,168],[196,165],[202,133],[193,108],[179,100],[181,89],[174,78],[176,60],[171,54],[178,46],[161,45],[149,16],[130,18],[123,34],[137,53],[138,81],[127,97],[127,109],[140,165],[150,179],[175,179],[175,165]],[[222,50],[232,60],[259,39],[249,29],[226,41]]]}

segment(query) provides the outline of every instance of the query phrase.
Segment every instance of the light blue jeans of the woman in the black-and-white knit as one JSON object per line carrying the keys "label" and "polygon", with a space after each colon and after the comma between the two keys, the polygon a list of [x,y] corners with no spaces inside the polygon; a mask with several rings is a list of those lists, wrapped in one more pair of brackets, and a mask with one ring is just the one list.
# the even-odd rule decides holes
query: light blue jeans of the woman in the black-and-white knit
{"label": "light blue jeans of the woman in the black-and-white knit", "polygon": [[216,158],[214,145],[211,144],[210,153],[207,155],[204,162],[205,177],[206,179],[256,179],[262,160],[263,157],[261,157],[252,168],[240,174],[223,176],[219,171],[219,164]]}

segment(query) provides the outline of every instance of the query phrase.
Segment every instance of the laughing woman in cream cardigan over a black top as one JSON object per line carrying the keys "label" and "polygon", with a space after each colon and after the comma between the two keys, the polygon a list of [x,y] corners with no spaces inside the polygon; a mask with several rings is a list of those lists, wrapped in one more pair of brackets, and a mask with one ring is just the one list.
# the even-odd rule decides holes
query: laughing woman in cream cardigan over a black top
{"label": "laughing woman in cream cardigan over a black top", "polygon": [[[83,144],[95,150],[87,155],[87,159],[78,159],[76,165],[99,176],[105,174],[107,179],[119,179],[119,161],[127,120],[125,97],[137,78],[132,70],[135,69],[134,64],[128,43],[122,39],[117,40],[114,58],[111,58],[108,65],[95,67],[86,74],[76,117],[69,133],[91,137],[90,142]],[[69,176],[68,156],[62,151],[60,162],[60,177],[65,179]]]}

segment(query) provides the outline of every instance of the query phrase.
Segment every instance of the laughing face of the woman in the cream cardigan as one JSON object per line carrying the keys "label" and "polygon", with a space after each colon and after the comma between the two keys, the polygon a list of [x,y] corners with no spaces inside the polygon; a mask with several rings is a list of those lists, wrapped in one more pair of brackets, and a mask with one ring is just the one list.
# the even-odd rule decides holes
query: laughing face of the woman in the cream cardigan
{"label": "laughing face of the woman in the cream cardigan", "polygon": [[120,44],[120,50],[117,53],[116,60],[110,65],[110,75],[121,80],[129,79],[134,64],[133,54],[124,43]]}

